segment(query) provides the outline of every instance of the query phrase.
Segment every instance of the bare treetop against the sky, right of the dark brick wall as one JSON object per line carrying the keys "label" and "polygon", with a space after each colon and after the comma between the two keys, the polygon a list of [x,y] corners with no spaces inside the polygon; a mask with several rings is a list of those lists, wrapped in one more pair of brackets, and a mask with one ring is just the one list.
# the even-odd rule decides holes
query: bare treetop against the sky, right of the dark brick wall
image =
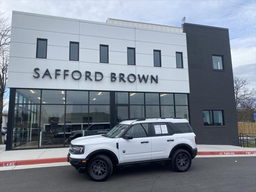
{"label": "bare treetop against the sky, right of the dark brick wall", "polygon": [[255,88],[250,89],[250,82],[246,79],[234,76],[234,90],[236,107],[239,107],[243,102],[252,100],[255,96]]}

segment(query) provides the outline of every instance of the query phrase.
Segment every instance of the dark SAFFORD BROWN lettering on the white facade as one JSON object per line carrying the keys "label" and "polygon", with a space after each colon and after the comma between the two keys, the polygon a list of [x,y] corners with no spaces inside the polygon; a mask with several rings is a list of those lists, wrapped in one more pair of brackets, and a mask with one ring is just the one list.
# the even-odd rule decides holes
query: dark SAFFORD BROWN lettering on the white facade
{"label": "dark SAFFORD BROWN lettering on the white facade", "polygon": [[[60,78],[58,76],[60,76],[60,73],[63,72],[63,79],[66,79],[68,76],[71,76],[74,80],[80,80],[83,76],[84,76],[84,80],[89,80],[89,81],[101,81],[103,78],[104,78],[104,75],[102,72],[94,72],[92,74],[92,72],[90,71],[85,71],[83,72],[83,75],[82,75],[82,72],[79,71],[79,70],[74,70],[74,71],[69,71],[67,69],[64,69],[64,70],[60,70],[60,69],[55,69],[55,71],[53,73],[50,73],[50,71],[48,69],[44,70],[44,72],[42,74],[42,78],[50,78],[52,79],[53,77],[55,79],[57,78]],[[34,68],[34,75],[33,77],[34,78],[40,78],[40,68]],[[116,74],[116,73],[113,73],[111,72],[110,73],[110,80],[111,82],[115,82],[117,80],[117,78],[119,78],[119,82],[126,82],[125,78],[127,78],[127,81],[130,82],[130,83],[133,83],[135,82],[137,79],[139,80],[140,83],[144,82],[144,83],[147,83],[149,80],[150,80],[150,83],[158,83],[158,75],[156,76],[153,76],[153,75],[140,75],[138,74],[138,76],[136,76],[135,74],[128,74],[127,76],[125,76],[124,73],[119,73],[119,74]]]}

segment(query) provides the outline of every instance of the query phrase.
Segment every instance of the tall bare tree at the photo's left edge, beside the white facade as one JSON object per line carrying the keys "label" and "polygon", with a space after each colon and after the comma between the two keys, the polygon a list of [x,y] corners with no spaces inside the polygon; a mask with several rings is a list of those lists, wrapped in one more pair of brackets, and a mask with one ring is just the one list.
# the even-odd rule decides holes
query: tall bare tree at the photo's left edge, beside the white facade
{"label": "tall bare tree at the photo's left edge, beside the white facade", "polygon": [[[8,18],[4,18],[4,13],[0,13],[0,128],[2,130],[3,108],[7,104],[6,99],[6,83],[9,64],[9,46],[11,27],[7,24]],[[2,134],[0,136],[0,144],[2,144]]]}

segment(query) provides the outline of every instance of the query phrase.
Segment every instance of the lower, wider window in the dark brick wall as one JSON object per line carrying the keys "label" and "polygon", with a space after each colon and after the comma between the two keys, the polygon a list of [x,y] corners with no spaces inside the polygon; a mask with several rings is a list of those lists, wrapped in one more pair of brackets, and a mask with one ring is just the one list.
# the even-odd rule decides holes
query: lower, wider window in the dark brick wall
{"label": "lower, wider window in the dark brick wall", "polygon": [[222,110],[203,110],[204,125],[221,126],[224,125]]}

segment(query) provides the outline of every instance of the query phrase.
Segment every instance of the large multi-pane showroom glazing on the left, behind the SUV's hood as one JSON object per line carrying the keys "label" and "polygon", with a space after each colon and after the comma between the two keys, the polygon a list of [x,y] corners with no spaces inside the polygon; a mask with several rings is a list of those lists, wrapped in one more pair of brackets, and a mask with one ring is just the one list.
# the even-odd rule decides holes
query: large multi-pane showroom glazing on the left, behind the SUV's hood
{"label": "large multi-pane showroom glazing on the left, behind the SUV's hood", "polygon": [[63,147],[80,136],[104,134],[109,103],[109,92],[16,89],[12,148]]}

